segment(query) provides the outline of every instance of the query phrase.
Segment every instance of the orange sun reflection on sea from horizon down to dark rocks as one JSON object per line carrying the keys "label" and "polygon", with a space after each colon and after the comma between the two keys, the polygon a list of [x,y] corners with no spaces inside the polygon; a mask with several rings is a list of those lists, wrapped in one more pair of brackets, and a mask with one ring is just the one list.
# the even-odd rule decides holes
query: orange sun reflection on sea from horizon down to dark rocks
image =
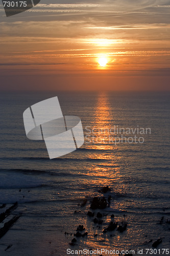
{"label": "orange sun reflection on sea from horizon down to dark rocks", "polygon": [[114,126],[113,115],[114,110],[111,108],[109,96],[107,93],[99,94],[90,134],[97,141],[93,140],[86,145],[89,148],[86,157],[92,162],[87,166],[84,175],[89,177],[91,186],[113,186],[113,190],[120,194],[125,190],[121,166],[118,164],[121,155],[118,153],[118,147],[109,141],[107,134],[107,131]]}

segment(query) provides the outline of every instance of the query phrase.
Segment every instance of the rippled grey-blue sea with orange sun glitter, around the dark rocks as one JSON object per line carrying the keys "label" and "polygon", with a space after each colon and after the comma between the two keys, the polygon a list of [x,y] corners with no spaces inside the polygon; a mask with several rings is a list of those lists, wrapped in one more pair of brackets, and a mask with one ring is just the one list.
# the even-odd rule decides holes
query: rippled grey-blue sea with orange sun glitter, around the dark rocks
{"label": "rippled grey-blue sea with orange sun glitter, around the dark rocks", "polygon": [[[81,118],[85,143],[50,160],[43,141],[26,137],[22,114],[30,105],[54,96],[64,115]],[[2,93],[0,204],[9,207],[17,201],[12,214],[22,215],[0,240],[0,255],[65,256],[67,249],[84,248],[133,249],[135,255],[143,249],[143,255],[149,255],[145,249],[159,238],[162,243],[154,254],[165,255],[162,248],[169,248],[170,233],[166,223],[170,219],[169,98],[167,92]],[[117,131],[121,128],[122,133]],[[128,130],[130,134],[123,133]],[[131,137],[129,143],[125,137]],[[107,185],[111,191],[100,193]],[[110,207],[95,210],[107,215],[103,224],[94,224],[87,216],[92,198],[109,195]],[[85,197],[87,204],[81,207]],[[126,231],[103,233],[111,214],[114,221],[128,223]],[[79,224],[88,236],[71,246]]]}

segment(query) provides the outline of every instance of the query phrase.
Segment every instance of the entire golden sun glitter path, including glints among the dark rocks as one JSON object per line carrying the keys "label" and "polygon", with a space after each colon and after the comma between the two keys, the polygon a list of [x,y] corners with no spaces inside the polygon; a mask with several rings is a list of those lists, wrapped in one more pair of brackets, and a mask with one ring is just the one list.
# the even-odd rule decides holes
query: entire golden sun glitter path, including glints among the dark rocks
{"label": "entire golden sun glitter path, including glints among the dark rocks", "polygon": [[[108,185],[109,187],[112,188],[113,191],[116,191],[116,193],[122,194],[125,191],[125,189],[127,189],[126,186],[128,185],[123,182],[121,168],[117,164],[121,158],[121,156],[117,155],[116,153],[117,145],[114,145],[109,140],[108,131],[113,126],[114,110],[110,106],[109,97],[105,93],[99,94],[98,100],[96,101],[94,119],[91,125],[91,128],[93,129],[91,136],[94,137],[93,143],[90,143],[89,145],[87,144],[86,147],[89,149],[92,148],[93,150],[96,150],[96,153],[88,154],[89,159],[103,161],[90,164],[87,168],[85,175],[91,177],[91,186],[100,188]],[[121,202],[118,202],[118,204],[118,208],[120,209]],[[105,223],[109,223],[111,221],[110,215],[111,213],[114,212],[113,207],[114,206],[111,203],[109,209],[107,209],[107,211],[110,212],[110,214],[108,214],[108,216],[105,217]],[[86,219],[85,226],[88,230],[90,230],[91,233],[91,239],[87,239],[85,241],[85,247],[93,249],[107,248],[112,250],[116,250],[117,248],[122,247],[122,241],[119,241],[120,236],[118,233],[113,236],[110,236],[110,233],[103,233],[103,227],[106,226],[106,224],[103,224],[101,229],[99,229],[100,225],[96,225],[93,227],[93,222],[90,222],[88,219]],[[95,233],[98,233],[98,239],[94,237]],[[103,252],[102,255],[107,254]],[[113,255],[118,254],[115,253]]]}

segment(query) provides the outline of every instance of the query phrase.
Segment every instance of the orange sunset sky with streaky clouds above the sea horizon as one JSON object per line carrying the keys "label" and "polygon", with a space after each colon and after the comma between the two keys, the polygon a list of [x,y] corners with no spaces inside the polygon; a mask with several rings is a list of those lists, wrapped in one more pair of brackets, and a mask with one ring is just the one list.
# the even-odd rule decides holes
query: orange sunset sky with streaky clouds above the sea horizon
{"label": "orange sunset sky with streaky clouds above the sea horizon", "polygon": [[41,0],[10,17],[1,3],[1,90],[167,91],[169,14],[169,0]]}

